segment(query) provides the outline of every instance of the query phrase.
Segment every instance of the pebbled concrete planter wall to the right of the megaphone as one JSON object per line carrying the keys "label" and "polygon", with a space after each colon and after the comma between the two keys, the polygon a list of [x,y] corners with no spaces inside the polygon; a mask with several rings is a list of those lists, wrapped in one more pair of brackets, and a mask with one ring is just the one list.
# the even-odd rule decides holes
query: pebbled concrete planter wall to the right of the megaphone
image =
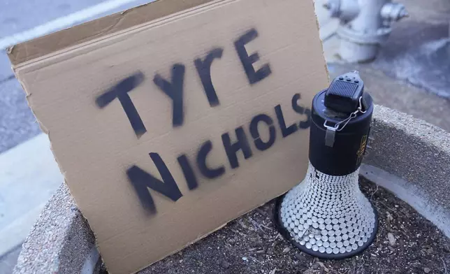
{"label": "pebbled concrete planter wall to the right of the megaphone", "polygon": [[450,134],[409,115],[377,106],[365,163],[421,189],[450,214]]}

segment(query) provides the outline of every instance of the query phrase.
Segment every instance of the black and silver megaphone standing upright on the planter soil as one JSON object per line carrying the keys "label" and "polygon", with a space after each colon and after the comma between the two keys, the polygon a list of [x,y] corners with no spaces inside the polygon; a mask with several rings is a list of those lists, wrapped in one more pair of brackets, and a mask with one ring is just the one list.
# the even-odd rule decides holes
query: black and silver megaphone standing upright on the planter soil
{"label": "black and silver megaphone standing upright on the planter soil", "polygon": [[373,102],[358,71],[335,78],[312,101],[309,167],[275,206],[275,223],[301,251],[343,259],[377,234],[377,212],[358,186]]}

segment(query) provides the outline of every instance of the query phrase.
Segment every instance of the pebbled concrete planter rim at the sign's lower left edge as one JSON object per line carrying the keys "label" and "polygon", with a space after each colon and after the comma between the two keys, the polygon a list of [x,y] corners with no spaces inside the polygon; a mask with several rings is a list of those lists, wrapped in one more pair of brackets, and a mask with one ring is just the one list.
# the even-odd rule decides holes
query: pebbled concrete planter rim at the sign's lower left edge
{"label": "pebbled concrete planter rim at the sign's lower left edge", "polygon": [[13,273],[80,273],[92,246],[94,233],[64,183],[27,236]]}

